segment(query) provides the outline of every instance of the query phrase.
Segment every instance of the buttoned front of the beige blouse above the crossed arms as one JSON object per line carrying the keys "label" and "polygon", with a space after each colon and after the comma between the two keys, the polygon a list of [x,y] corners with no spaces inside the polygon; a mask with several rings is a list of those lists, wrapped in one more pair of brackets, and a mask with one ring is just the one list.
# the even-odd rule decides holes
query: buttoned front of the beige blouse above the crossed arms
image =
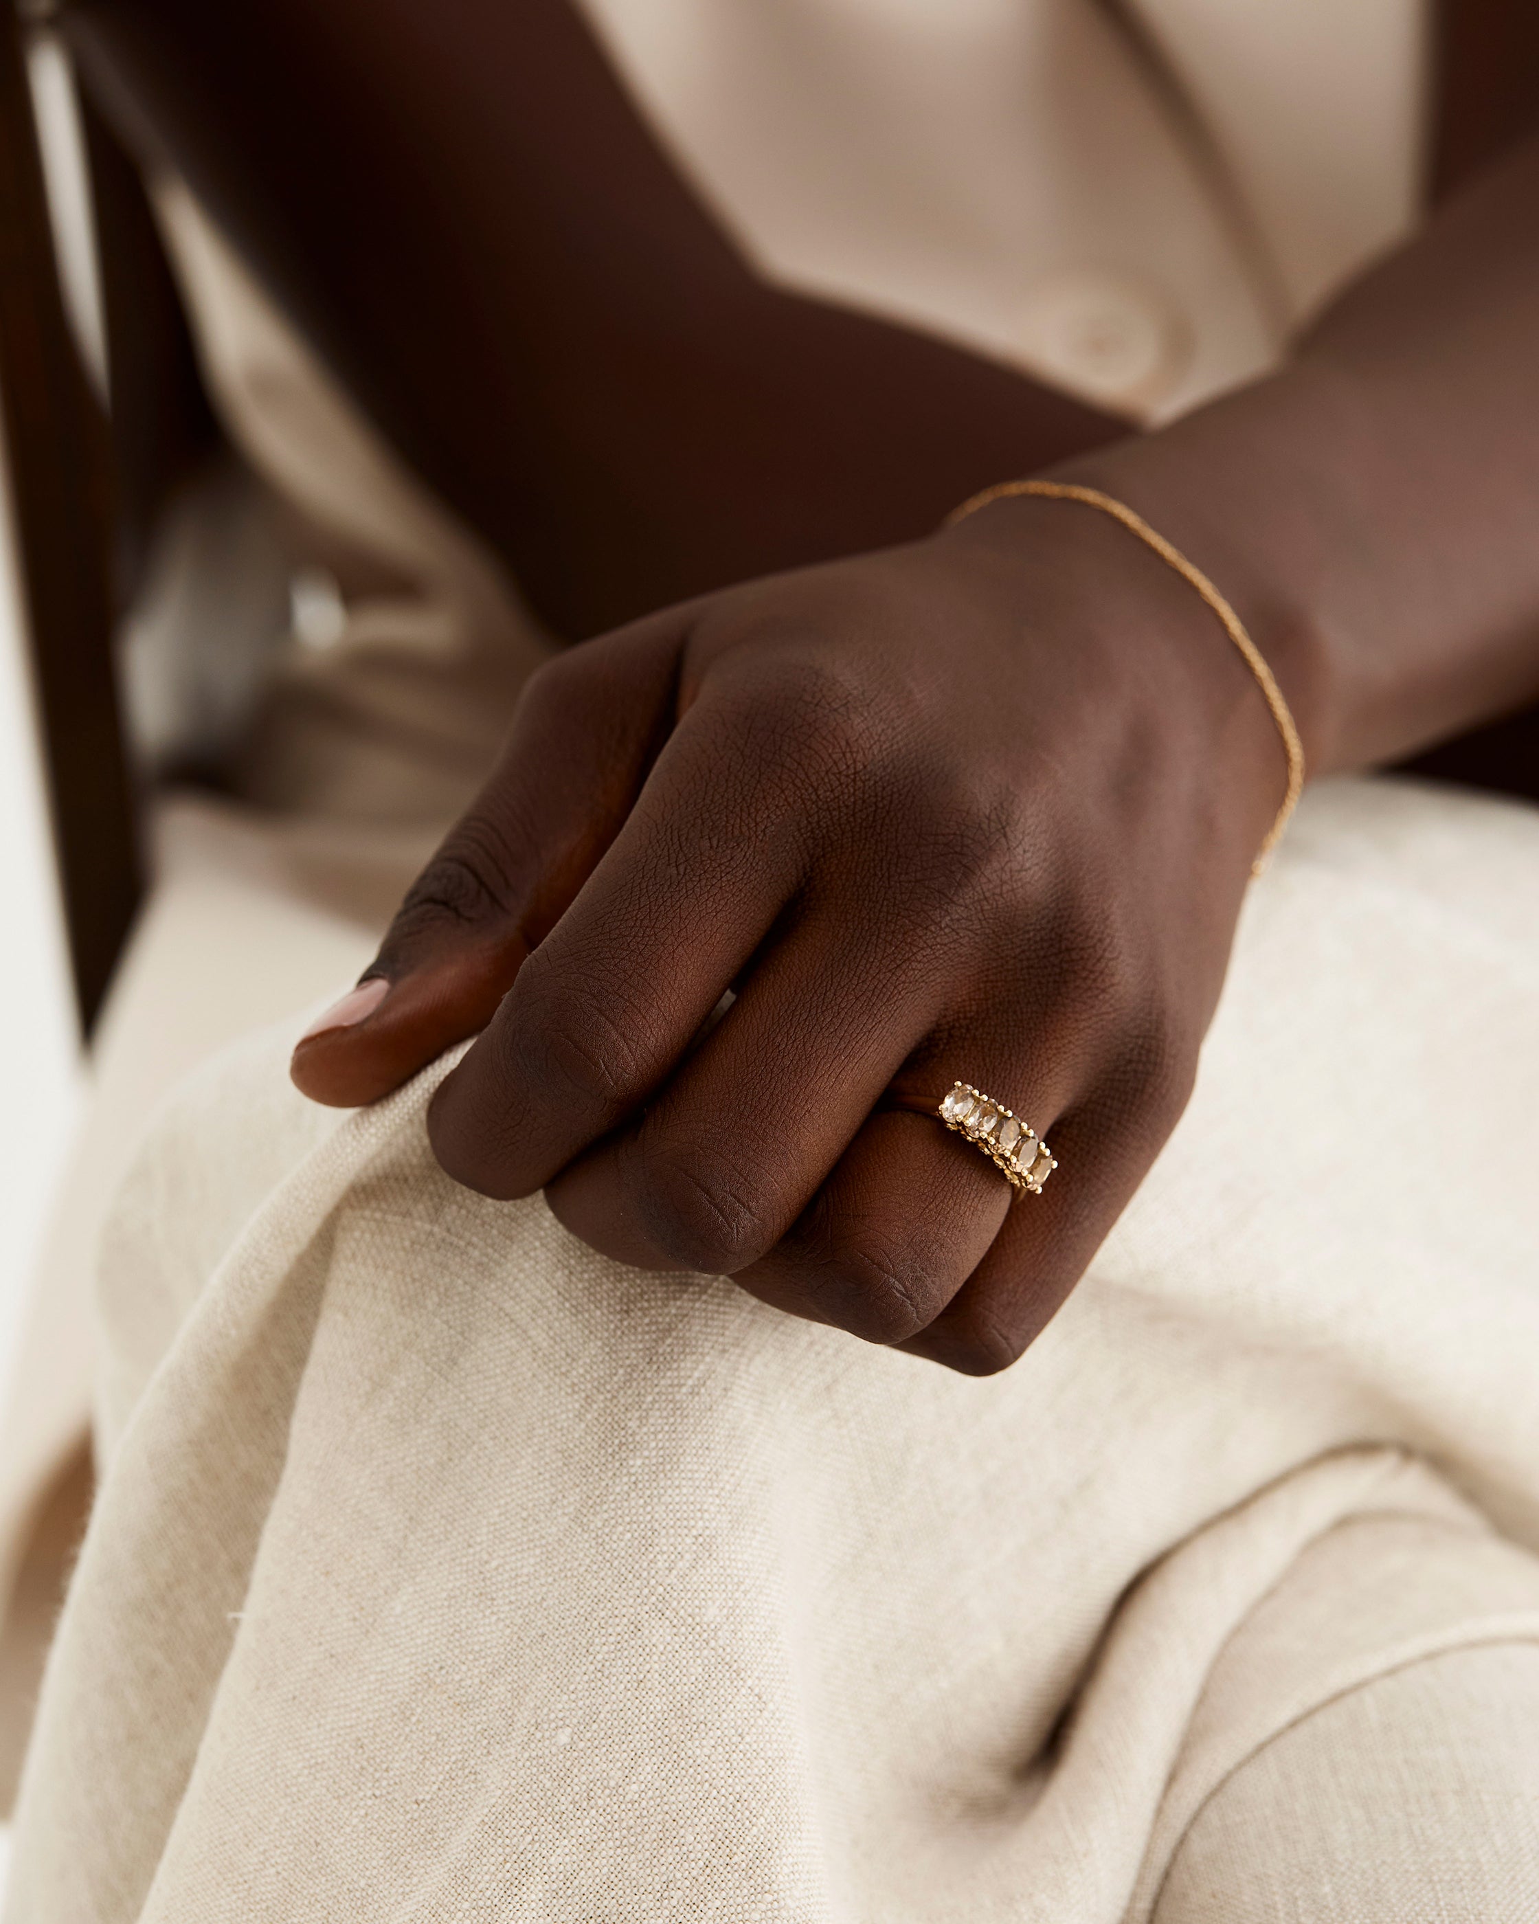
{"label": "buttoned front of the beige blouse above the crossed arms", "polygon": [[1414,217],[1422,0],[583,0],[771,277],[1145,418]]}

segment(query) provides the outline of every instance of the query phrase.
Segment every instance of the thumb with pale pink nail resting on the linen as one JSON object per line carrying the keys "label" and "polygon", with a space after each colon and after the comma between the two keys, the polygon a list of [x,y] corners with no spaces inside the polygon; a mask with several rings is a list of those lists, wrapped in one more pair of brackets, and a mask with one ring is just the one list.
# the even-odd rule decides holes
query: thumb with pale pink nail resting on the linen
{"label": "thumb with pale pink nail resting on the linen", "polygon": [[496,768],[379,954],[300,1037],[290,1076],[304,1095],[375,1102],[485,1029],[631,812],[673,727],[683,633],[669,610],[531,675]]}

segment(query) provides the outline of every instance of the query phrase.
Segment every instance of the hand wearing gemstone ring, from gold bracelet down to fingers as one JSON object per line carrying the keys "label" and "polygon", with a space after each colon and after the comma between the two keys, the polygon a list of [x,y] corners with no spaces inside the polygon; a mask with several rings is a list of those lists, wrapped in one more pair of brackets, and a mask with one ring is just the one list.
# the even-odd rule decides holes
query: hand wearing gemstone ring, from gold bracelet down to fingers
{"label": "hand wearing gemstone ring, from gold bracelet down to fingers", "polygon": [[[1000,502],[544,668],[389,989],[294,1081],[373,1101],[483,1031],[429,1114],[458,1181],[998,1370],[1185,1106],[1283,779],[1185,583],[1083,506]],[[956,1079],[1052,1145],[1041,1197],[933,1118]]]}

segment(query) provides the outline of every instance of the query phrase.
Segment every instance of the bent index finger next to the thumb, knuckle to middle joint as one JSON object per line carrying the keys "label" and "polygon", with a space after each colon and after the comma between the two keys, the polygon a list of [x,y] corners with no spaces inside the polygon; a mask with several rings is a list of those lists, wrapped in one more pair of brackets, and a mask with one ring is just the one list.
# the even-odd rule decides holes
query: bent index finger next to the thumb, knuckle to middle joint
{"label": "bent index finger next to the thumb, knuckle to middle joint", "polygon": [[529,1195],[658,1089],[810,870],[816,754],[746,677],[700,693],[439,1089],[429,1131],[450,1176]]}

